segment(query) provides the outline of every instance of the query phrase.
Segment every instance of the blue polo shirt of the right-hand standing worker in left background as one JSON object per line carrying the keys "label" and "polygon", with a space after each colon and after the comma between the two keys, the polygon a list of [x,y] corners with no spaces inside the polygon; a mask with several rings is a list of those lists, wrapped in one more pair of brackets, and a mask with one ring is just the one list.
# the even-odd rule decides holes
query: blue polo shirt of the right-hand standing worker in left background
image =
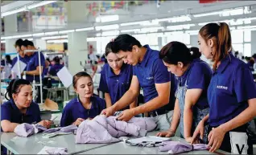
{"label": "blue polo shirt of the right-hand standing worker in left background", "polygon": [[[45,59],[41,52],[40,52],[40,60],[41,60],[41,66],[45,67]],[[27,71],[34,71],[38,66],[39,66],[39,53],[34,52],[34,54],[30,56],[30,60],[27,62]],[[43,71],[42,71],[42,76],[43,76]],[[34,75],[26,75],[26,79],[29,80],[30,82],[33,82]],[[35,75],[35,81],[39,82],[39,75]]]}

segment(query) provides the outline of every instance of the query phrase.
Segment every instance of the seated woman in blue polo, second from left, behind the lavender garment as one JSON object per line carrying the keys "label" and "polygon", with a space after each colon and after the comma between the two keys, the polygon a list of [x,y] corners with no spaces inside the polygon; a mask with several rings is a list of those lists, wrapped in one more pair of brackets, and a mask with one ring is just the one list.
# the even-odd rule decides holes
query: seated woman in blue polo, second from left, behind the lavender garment
{"label": "seated woman in blue polo, second from left, behind the lavender garment", "polygon": [[72,99],[64,108],[60,126],[81,124],[83,120],[93,119],[105,108],[105,100],[93,95],[93,80],[85,71],[73,76],[73,87],[78,97]]}

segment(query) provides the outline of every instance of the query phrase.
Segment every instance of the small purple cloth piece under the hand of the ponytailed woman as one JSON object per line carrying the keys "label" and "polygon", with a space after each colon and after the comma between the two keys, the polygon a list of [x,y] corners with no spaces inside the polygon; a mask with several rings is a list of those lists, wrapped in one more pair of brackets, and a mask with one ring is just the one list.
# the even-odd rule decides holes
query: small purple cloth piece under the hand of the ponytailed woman
{"label": "small purple cloth piece under the hand of the ponytailed woman", "polygon": [[185,153],[192,150],[207,150],[209,147],[204,144],[190,145],[180,141],[163,141],[159,146],[161,152],[168,151],[169,154]]}

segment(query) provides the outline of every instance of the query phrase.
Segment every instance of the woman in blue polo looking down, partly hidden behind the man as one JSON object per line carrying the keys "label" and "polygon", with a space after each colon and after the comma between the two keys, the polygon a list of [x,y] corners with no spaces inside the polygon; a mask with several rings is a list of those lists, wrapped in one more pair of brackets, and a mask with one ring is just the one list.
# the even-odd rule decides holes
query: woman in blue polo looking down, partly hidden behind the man
{"label": "woman in blue polo looking down, partly hidden behind the man", "polygon": [[[122,58],[118,58],[111,50],[110,42],[105,47],[105,57],[108,63],[105,63],[101,71],[101,80],[99,90],[105,93],[106,108],[116,103],[122,98],[130,88],[133,76],[132,66],[123,63]],[[137,101],[137,100],[136,100]],[[136,107],[136,101],[130,104],[130,108]],[[129,106],[122,110],[128,109]],[[121,110],[121,111],[122,111]]]}

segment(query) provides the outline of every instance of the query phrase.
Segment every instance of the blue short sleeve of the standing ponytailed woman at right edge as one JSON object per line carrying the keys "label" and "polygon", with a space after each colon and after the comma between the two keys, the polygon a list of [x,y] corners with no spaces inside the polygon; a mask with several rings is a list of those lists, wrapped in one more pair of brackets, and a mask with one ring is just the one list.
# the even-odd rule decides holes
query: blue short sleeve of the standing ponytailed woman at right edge
{"label": "blue short sleeve of the standing ponytailed woman at right edge", "polygon": [[238,102],[256,98],[256,85],[249,67],[239,67],[233,77],[234,92]]}

